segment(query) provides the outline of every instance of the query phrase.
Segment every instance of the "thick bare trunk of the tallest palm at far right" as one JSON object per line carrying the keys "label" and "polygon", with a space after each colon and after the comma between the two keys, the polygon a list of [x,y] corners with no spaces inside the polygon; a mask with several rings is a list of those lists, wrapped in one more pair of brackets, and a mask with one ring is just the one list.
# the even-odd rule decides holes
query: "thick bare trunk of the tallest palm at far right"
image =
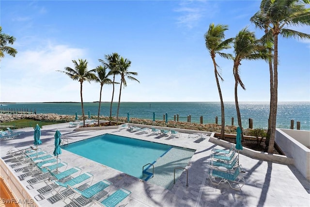
{"label": "thick bare trunk of the tallest palm at far right", "polygon": [[274,85],[272,97],[272,120],[271,120],[271,134],[269,139],[268,153],[273,152],[277,125],[277,109],[278,109],[278,34],[274,35]]}

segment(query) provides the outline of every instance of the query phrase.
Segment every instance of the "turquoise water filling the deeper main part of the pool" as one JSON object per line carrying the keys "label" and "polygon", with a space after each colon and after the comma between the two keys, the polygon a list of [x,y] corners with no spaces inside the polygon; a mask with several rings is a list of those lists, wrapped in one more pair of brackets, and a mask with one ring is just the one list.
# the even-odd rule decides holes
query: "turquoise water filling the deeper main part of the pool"
{"label": "turquoise water filling the deeper main part of the pool", "polygon": [[[181,151],[186,153],[187,161],[185,162],[184,156],[178,158],[178,156],[171,156],[171,153],[169,153],[169,157],[174,159],[172,163],[175,164],[178,162],[178,159],[182,160],[182,164],[185,165],[183,167],[186,167],[189,159],[194,154],[193,150],[182,150],[166,144],[111,134],[104,134],[76,143],[70,143],[63,147],[63,149],[141,179],[145,178],[145,175],[142,175],[142,167],[147,163],[155,164],[158,159],[163,158],[169,151],[175,151],[175,154],[179,154],[179,156],[184,154]],[[188,152],[190,152],[190,154],[188,154]],[[163,160],[165,159],[163,158]],[[179,164],[176,166],[179,167]],[[148,166],[145,168],[147,167]],[[158,166],[158,168],[160,167]],[[170,169],[170,171],[173,172],[173,169]],[[173,179],[173,173],[171,177]],[[163,185],[167,187],[170,183],[171,180],[168,180]]]}

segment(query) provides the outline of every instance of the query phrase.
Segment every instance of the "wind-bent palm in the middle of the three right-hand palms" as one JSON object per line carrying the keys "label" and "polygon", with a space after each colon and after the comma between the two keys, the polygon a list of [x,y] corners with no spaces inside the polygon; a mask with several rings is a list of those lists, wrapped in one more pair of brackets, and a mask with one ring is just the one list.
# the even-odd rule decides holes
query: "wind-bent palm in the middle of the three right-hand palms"
{"label": "wind-bent palm in the middle of the three right-hand palms", "polygon": [[[256,39],[255,33],[250,32],[248,28],[242,29],[235,37],[233,41],[233,76],[235,80],[234,84],[234,97],[238,118],[238,126],[242,130],[241,115],[238,103],[238,84],[241,88],[246,90],[240,78],[239,65],[241,65],[242,60],[266,60],[268,58],[268,53],[265,52],[265,47],[261,45],[261,42]],[[243,139],[243,136],[242,136]]]}

